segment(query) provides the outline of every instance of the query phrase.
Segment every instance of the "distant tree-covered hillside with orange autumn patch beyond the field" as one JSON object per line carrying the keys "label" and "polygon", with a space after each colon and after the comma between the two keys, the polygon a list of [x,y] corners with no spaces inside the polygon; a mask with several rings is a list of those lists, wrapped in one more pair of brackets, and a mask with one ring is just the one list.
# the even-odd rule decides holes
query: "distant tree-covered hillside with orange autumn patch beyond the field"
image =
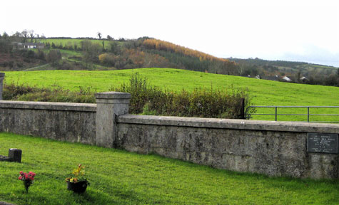
{"label": "distant tree-covered hillside with orange autumn patch beyond the field", "polygon": [[[18,43],[29,40],[31,43],[43,43],[44,48],[24,49]],[[270,80],[282,80],[284,75],[288,75],[294,83],[339,86],[339,68],[259,58],[217,58],[149,37],[127,40],[66,37],[25,39],[14,35],[6,38],[0,36],[0,45],[0,70],[180,68],[225,75],[260,75]]]}

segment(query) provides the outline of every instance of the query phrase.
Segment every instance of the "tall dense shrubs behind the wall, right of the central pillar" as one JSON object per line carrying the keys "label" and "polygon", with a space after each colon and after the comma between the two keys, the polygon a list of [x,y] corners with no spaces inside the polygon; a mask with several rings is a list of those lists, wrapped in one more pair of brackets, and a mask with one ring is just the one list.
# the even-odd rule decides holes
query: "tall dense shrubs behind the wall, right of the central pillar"
{"label": "tall dense shrubs behind the wall, right of the central pillar", "polygon": [[250,105],[247,90],[198,88],[192,93],[184,89],[176,93],[151,86],[138,74],[132,76],[129,85],[110,90],[131,93],[131,113],[143,115],[241,119],[244,108]]}

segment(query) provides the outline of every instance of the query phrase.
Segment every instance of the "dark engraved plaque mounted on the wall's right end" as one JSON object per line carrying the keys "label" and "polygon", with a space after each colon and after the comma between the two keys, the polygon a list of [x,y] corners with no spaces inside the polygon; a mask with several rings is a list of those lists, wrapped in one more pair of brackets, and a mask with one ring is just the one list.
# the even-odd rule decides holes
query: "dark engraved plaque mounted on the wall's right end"
{"label": "dark engraved plaque mounted on the wall's right end", "polygon": [[338,134],[308,133],[307,152],[338,154]]}

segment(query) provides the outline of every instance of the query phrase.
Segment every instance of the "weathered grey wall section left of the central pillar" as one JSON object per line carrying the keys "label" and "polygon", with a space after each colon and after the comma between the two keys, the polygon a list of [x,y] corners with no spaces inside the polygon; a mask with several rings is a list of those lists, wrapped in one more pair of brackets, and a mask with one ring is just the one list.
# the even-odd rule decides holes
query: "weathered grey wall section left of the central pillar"
{"label": "weathered grey wall section left of the central pillar", "polygon": [[96,104],[0,100],[0,132],[96,144]]}

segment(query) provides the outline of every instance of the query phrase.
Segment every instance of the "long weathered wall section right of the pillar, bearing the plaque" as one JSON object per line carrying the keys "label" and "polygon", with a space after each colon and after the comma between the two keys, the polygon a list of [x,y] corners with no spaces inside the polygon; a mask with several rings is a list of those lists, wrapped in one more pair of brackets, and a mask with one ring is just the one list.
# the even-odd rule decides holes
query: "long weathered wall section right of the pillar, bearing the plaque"
{"label": "long weathered wall section right of the pillar, bearing the plaque", "polygon": [[338,178],[338,154],[308,153],[308,132],[339,133],[339,126],[121,115],[117,147],[238,172]]}

